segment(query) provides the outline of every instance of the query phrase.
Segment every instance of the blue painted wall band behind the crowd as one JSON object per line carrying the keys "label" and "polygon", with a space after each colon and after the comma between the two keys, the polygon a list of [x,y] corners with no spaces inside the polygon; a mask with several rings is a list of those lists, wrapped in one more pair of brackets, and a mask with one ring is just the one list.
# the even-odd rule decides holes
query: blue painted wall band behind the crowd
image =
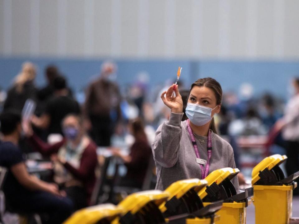
{"label": "blue painted wall band behind the crowd", "polygon": [[[7,89],[20,71],[21,64],[30,60],[38,66],[36,84],[45,84],[43,71],[48,64],[56,64],[68,78],[74,91],[82,90],[100,71],[102,59],[65,58],[0,58],[0,86]],[[122,88],[133,83],[136,75],[147,72],[151,89],[175,79],[178,66],[183,67],[181,79],[189,86],[198,77],[214,77],[224,91],[238,92],[244,82],[254,86],[256,96],[263,92],[287,99],[289,81],[299,76],[298,61],[192,61],[192,60],[115,60],[118,65],[117,82]]]}

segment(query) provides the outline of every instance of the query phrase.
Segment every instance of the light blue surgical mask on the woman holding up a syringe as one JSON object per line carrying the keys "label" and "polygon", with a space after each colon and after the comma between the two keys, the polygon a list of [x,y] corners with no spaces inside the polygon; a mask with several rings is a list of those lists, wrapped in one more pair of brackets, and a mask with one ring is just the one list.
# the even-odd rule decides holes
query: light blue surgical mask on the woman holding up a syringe
{"label": "light blue surgical mask on the woman holding up a syringe", "polygon": [[212,110],[214,110],[215,108],[212,109],[210,107],[188,103],[186,107],[186,115],[192,122],[192,124],[202,126],[207,124],[213,118],[211,117],[211,114]]}

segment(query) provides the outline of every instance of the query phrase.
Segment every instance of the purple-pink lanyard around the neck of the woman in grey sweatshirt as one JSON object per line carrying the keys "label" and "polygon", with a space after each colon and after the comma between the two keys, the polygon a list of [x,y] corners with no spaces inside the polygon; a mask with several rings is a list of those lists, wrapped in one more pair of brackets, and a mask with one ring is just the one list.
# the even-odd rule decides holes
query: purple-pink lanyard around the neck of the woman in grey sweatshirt
{"label": "purple-pink lanyard around the neck of the woman in grey sweatshirt", "polygon": [[[199,152],[198,152],[198,147],[197,147],[197,143],[196,143],[196,140],[194,138],[194,134],[192,132],[192,129],[190,127],[190,121],[189,121],[189,119],[187,120],[187,128],[188,128],[188,132],[189,132],[189,135],[190,135],[190,138],[191,138],[191,142],[192,142],[192,145],[193,145],[196,157],[198,159],[200,159]],[[212,156],[211,130],[209,130],[209,133],[208,133],[207,151],[208,151],[208,161],[207,161],[207,164],[206,164],[206,170],[203,170],[202,164],[199,164],[200,165],[200,169],[202,171],[202,179],[205,179],[207,177],[207,175],[209,173],[209,169],[210,169],[210,159],[211,159],[211,156]]]}

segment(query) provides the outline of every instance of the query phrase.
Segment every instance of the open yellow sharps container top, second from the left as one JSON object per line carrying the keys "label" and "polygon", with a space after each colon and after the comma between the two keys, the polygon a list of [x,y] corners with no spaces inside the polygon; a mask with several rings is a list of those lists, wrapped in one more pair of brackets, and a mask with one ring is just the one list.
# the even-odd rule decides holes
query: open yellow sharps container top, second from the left
{"label": "open yellow sharps container top, second from the left", "polygon": [[141,191],[130,194],[117,208],[122,210],[121,217],[116,217],[112,224],[162,224],[165,219],[159,206],[169,198],[167,192],[160,190]]}

